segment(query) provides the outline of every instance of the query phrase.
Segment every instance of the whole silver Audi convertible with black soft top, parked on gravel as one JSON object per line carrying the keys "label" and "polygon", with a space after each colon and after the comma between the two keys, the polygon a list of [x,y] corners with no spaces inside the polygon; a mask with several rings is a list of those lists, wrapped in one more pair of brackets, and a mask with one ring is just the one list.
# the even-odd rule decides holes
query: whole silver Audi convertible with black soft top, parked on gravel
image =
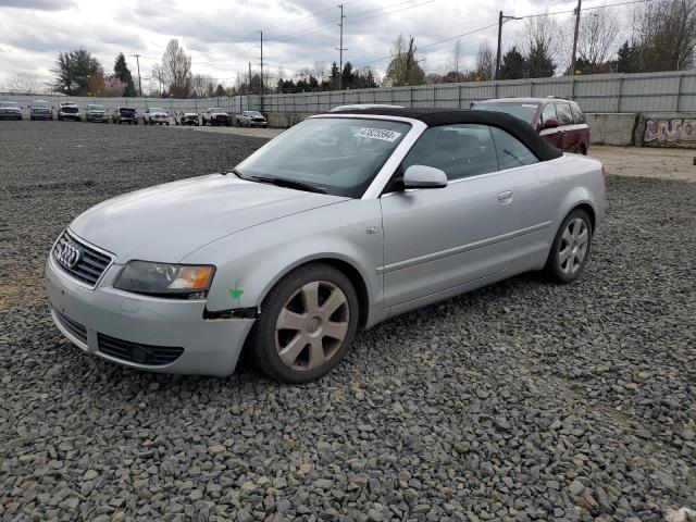
{"label": "whole silver Audi convertible with black soft top, parked on gravel", "polygon": [[53,321],[113,362],[291,383],[356,333],[527,271],[570,283],[605,212],[601,163],[502,113],[335,110],[235,169],[75,219],[46,269]]}

